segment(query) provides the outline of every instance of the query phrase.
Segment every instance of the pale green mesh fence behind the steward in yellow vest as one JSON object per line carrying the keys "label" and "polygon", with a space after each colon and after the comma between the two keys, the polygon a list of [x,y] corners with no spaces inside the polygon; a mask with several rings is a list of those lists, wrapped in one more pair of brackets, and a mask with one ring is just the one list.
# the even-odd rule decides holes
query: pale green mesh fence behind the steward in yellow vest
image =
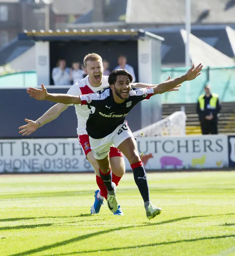
{"label": "pale green mesh fence behind the steward in yellow vest", "polygon": [[[186,73],[188,68],[164,68],[162,69],[161,82],[178,77]],[[185,82],[179,91],[162,94],[162,103],[194,103],[203,93],[205,83],[209,82],[213,93],[219,94],[224,102],[235,101],[235,66],[232,67],[208,67],[195,80]]]}

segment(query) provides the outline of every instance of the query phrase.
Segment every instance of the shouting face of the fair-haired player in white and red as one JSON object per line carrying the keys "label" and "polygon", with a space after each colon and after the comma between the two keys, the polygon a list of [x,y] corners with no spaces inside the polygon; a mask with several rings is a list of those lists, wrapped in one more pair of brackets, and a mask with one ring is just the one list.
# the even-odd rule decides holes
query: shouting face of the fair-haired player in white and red
{"label": "shouting face of the fair-haired player in white and red", "polygon": [[100,84],[103,75],[103,64],[101,60],[98,61],[87,61],[87,67],[85,68],[86,73],[90,77],[90,82],[93,84]]}

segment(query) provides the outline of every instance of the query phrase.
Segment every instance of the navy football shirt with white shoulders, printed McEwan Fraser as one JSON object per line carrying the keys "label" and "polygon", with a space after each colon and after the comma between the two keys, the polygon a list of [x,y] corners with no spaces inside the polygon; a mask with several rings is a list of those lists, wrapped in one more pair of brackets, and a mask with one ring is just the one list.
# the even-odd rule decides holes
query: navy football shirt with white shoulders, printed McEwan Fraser
{"label": "navy football shirt with white shoulders, printed McEwan Fraser", "polygon": [[119,104],[113,99],[110,87],[91,94],[80,95],[81,105],[95,107],[86,123],[88,135],[100,139],[111,134],[117,126],[123,124],[125,116],[140,101],[148,100],[153,95],[153,88],[132,88],[126,101]]}

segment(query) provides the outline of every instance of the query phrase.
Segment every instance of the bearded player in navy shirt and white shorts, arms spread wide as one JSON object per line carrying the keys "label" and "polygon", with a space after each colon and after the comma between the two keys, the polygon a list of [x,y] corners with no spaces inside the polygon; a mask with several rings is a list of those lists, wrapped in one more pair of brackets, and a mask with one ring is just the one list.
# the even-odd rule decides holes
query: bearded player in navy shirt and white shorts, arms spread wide
{"label": "bearded player in navy shirt and white shorts, arms spread wide", "polygon": [[112,182],[109,162],[110,146],[118,148],[126,156],[133,169],[134,180],[144,200],[148,219],[160,214],[162,209],[154,206],[149,198],[147,176],[137,150],[137,144],[125,120],[125,116],[140,101],[155,94],[164,93],[178,84],[193,80],[202,70],[202,65],[193,65],[188,72],[175,79],[147,88],[131,88],[132,76],[126,70],[117,69],[109,75],[110,87],[96,93],[73,96],[50,94],[42,84],[42,90],[27,89],[31,97],[63,104],[81,104],[95,107],[86,123],[90,146],[100,167],[100,176],[108,190],[107,204],[111,212],[117,210],[116,185]]}

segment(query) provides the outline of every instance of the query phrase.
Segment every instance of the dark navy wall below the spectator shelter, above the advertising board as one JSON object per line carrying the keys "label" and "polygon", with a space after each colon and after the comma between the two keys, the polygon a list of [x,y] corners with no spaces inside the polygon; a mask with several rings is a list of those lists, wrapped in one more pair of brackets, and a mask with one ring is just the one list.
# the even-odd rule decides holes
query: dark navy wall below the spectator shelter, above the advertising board
{"label": "dark navy wall below the spectator shelter, above the advertising board", "polygon": [[[48,89],[49,93],[67,93],[67,91],[68,89]],[[36,120],[53,105],[53,102],[30,98],[26,89],[0,89],[0,138],[22,138],[18,127],[26,124],[25,118]],[[126,119],[132,131],[141,128],[140,104],[131,110]],[[75,108],[71,106],[57,119],[40,127],[26,138],[77,137],[76,128]]]}

